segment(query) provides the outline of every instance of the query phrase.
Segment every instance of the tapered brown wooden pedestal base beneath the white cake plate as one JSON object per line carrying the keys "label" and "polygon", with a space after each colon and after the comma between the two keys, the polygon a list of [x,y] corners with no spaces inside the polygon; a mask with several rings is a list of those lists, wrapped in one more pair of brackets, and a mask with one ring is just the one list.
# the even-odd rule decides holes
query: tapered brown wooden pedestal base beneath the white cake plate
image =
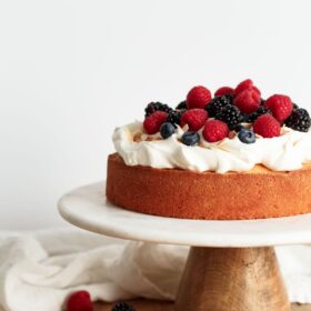
{"label": "tapered brown wooden pedestal base beneath the white cake plate", "polygon": [[192,248],[177,311],[290,311],[273,248]]}

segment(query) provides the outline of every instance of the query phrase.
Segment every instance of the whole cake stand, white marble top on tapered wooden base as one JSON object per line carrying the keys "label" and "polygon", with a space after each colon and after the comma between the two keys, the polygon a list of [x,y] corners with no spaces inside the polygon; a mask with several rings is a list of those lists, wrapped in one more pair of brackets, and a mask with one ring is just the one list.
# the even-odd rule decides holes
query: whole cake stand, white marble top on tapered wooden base
{"label": "whole cake stand, white marble top on tapered wooden base", "polygon": [[248,221],[147,215],[107,202],[104,182],[63,195],[59,211],[100,234],[191,245],[177,311],[289,311],[273,247],[311,242],[311,214]]}

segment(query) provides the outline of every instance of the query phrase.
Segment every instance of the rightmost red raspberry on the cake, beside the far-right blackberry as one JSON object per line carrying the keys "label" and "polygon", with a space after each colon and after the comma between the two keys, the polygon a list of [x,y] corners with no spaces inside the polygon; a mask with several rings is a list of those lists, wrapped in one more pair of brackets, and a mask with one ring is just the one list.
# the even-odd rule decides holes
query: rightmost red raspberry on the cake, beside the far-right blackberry
{"label": "rightmost red raspberry on the cake, beside the far-right blackberry", "polygon": [[267,99],[264,107],[270,109],[272,116],[280,122],[285,121],[293,110],[292,101],[287,96],[274,94]]}

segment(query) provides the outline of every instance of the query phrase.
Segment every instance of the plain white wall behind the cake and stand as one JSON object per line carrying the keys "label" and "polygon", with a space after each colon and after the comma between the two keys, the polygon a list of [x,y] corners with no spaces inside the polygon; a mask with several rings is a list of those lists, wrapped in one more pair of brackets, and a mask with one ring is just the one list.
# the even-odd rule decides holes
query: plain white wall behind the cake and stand
{"label": "plain white wall behind the cake and stand", "polygon": [[252,78],[311,108],[311,1],[0,0],[0,229],[64,225],[116,126]]}

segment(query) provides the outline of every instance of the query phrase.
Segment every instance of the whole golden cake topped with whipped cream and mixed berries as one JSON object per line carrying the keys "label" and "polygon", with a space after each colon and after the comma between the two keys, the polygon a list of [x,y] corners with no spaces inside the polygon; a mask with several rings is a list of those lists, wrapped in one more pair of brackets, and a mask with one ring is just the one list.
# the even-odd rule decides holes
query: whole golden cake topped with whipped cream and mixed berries
{"label": "whole golden cake topped with whipped cream and mixed berries", "polygon": [[146,108],[117,128],[107,199],[147,214],[208,220],[311,212],[311,120],[290,97],[248,79],[214,97],[192,88],[175,109]]}

